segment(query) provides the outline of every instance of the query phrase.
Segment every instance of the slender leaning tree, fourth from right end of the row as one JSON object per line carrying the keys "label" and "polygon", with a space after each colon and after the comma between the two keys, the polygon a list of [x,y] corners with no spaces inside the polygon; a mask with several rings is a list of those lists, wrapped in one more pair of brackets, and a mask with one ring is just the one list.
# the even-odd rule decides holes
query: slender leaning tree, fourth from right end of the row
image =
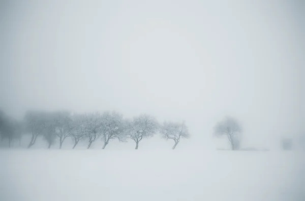
{"label": "slender leaning tree, fourth from right end of the row", "polygon": [[85,135],[89,139],[87,149],[101,135],[102,115],[99,112],[86,114]]}

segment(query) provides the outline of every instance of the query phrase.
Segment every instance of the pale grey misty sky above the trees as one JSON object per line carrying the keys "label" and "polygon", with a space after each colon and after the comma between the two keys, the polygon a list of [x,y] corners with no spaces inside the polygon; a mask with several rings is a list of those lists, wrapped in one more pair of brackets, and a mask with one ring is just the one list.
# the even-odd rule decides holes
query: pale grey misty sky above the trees
{"label": "pale grey misty sky above the trees", "polygon": [[15,118],[27,109],[149,113],[186,120],[187,143],[198,146],[225,115],[239,119],[249,146],[305,133],[301,1],[0,6],[0,108]]}

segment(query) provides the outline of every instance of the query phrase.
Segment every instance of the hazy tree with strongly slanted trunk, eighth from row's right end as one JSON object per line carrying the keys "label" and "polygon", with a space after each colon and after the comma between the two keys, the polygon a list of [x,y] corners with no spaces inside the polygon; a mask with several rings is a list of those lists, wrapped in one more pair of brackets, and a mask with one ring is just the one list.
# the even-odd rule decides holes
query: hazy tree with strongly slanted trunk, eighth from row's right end
{"label": "hazy tree with strongly slanted trunk, eighth from row's right end", "polygon": [[40,111],[27,111],[24,116],[24,123],[26,126],[26,130],[31,132],[32,138],[29,142],[27,148],[33,146],[36,142],[36,139],[39,135],[43,133],[43,120],[42,120],[42,112]]}

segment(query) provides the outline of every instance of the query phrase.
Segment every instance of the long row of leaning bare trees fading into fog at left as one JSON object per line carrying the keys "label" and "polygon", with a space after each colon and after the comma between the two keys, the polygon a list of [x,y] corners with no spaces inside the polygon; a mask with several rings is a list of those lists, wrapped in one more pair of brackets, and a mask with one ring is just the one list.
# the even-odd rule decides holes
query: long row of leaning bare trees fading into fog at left
{"label": "long row of leaning bare trees fading into fog at left", "polygon": [[174,141],[172,149],[175,149],[181,138],[189,138],[190,134],[185,122],[164,122],[159,124],[157,119],[147,114],[141,114],[132,119],[123,118],[118,112],[92,112],[72,113],[70,111],[27,111],[23,122],[18,123],[0,111],[1,139],[8,139],[9,146],[14,139],[21,139],[21,133],[31,133],[31,141],[28,148],[32,147],[38,136],[48,143],[50,148],[59,140],[59,148],[62,148],[67,138],[72,138],[75,148],[81,140],[88,142],[87,148],[92,143],[101,139],[104,142],[103,149],[113,139],[125,142],[131,139],[135,142],[135,149],[144,138],[150,138],[160,133],[164,139]]}

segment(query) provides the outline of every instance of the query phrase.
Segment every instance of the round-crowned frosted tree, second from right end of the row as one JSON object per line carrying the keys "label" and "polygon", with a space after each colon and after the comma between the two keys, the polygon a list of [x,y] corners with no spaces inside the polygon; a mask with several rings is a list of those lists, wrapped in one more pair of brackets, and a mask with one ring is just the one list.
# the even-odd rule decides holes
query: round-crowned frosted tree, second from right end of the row
{"label": "round-crowned frosted tree, second from right end of the row", "polygon": [[158,131],[158,122],[155,117],[142,114],[127,121],[128,137],[135,141],[136,148],[143,138],[153,137]]}

